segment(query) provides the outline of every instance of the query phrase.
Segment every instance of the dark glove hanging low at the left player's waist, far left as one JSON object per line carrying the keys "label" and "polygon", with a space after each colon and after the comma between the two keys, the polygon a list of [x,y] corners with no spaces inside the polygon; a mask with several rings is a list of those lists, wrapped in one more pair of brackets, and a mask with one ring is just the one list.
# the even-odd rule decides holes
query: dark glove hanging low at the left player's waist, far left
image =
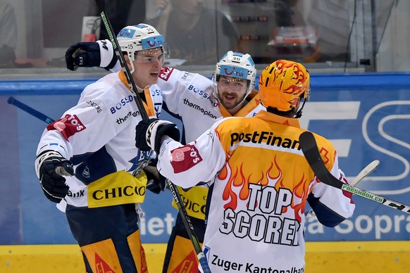
{"label": "dark glove hanging low at the left player's waist, far left", "polygon": [[62,175],[73,175],[73,164],[56,151],[45,151],[37,156],[35,168],[46,198],[60,203],[68,193],[66,179]]}

